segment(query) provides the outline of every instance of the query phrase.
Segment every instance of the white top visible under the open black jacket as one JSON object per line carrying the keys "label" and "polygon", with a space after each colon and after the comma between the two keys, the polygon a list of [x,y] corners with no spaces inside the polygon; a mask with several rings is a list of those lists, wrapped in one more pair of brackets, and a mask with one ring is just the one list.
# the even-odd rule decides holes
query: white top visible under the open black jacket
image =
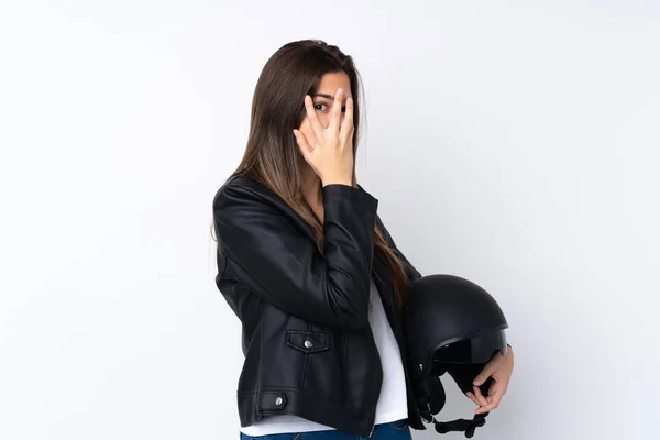
{"label": "white top visible under the open black jacket", "polygon": [[[370,292],[369,322],[374,333],[374,340],[383,365],[383,385],[376,407],[375,424],[380,425],[407,419],[406,378],[404,376],[402,356],[373,279]],[[282,415],[262,419],[250,427],[241,428],[241,431],[246,436],[258,437],[333,429],[297,416]]]}

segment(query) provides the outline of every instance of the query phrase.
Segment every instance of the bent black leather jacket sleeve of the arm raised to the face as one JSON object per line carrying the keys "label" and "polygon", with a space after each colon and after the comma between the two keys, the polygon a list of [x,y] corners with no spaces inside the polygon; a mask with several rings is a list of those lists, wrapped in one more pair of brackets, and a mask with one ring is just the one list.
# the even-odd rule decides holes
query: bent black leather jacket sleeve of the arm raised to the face
{"label": "bent black leather jacket sleeve of the arm raised to the face", "polygon": [[249,187],[216,197],[218,244],[239,280],[302,319],[341,329],[369,324],[369,295],[378,201],[346,185],[327,185],[323,253],[287,216]]}

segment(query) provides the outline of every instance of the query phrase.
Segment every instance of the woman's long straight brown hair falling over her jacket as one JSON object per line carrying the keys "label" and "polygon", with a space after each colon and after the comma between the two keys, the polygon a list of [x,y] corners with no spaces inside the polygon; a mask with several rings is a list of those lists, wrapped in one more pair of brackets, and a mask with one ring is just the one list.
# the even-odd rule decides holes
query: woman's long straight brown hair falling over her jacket
{"label": "woman's long straight brown hair falling over her jacket", "polygon": [[[234,174],[258,180],[282,197],[314,230],[323,250],[323,226],[302,195],[304,157],[292,132],[305,119],[302,97],[314,96],[327,73],[345,73],[353,95],[353,156],[356,157],[360,129],[360,74],[351,56],[318,40],[302,40],[282,46],[264,66],[252,100],[250,136]],[[353,164],[353,185],[356,184]],[[407,302],[408,278],[404,265],[388,246],[381,228],[374,231],[374,251],[389,268],[399,307]]]}

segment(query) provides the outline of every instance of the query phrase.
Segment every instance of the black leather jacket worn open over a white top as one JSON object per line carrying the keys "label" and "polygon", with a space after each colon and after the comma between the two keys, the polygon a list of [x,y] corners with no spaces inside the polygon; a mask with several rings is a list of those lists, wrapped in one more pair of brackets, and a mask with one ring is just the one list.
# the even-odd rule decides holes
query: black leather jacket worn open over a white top
{"label": "black leather jacket worn open over a white top", "polygon": [[[369,324],[370,275],[402,351],[408,425],[424,429],[406,362],[403,319],[385,263],[373,252],[374,226],[392,238],[362,188],[322,189],[324,250],[282,198],[234,175],[213,199],[216,284],[242,322],[245,363],[238,386],[241,426],[296,415],[370,436],[382,365]],[[419,277],[410,263],[410,279]]]}

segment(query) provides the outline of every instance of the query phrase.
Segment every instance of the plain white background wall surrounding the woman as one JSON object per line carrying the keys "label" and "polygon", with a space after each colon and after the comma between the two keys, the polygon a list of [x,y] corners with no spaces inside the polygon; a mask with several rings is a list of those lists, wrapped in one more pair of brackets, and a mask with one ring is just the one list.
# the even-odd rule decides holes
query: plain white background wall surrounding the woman
{"label": "plain white background wall surrounding the woman", "polygon": [[[3,1],[0,438],[238,439],[211,201],[261,68],[307,37],[355,57],[359,178],[398,245],[506,312],[475,438],[657,438],[650,0]],[[446,384],[441,419],[470,417]]]}

